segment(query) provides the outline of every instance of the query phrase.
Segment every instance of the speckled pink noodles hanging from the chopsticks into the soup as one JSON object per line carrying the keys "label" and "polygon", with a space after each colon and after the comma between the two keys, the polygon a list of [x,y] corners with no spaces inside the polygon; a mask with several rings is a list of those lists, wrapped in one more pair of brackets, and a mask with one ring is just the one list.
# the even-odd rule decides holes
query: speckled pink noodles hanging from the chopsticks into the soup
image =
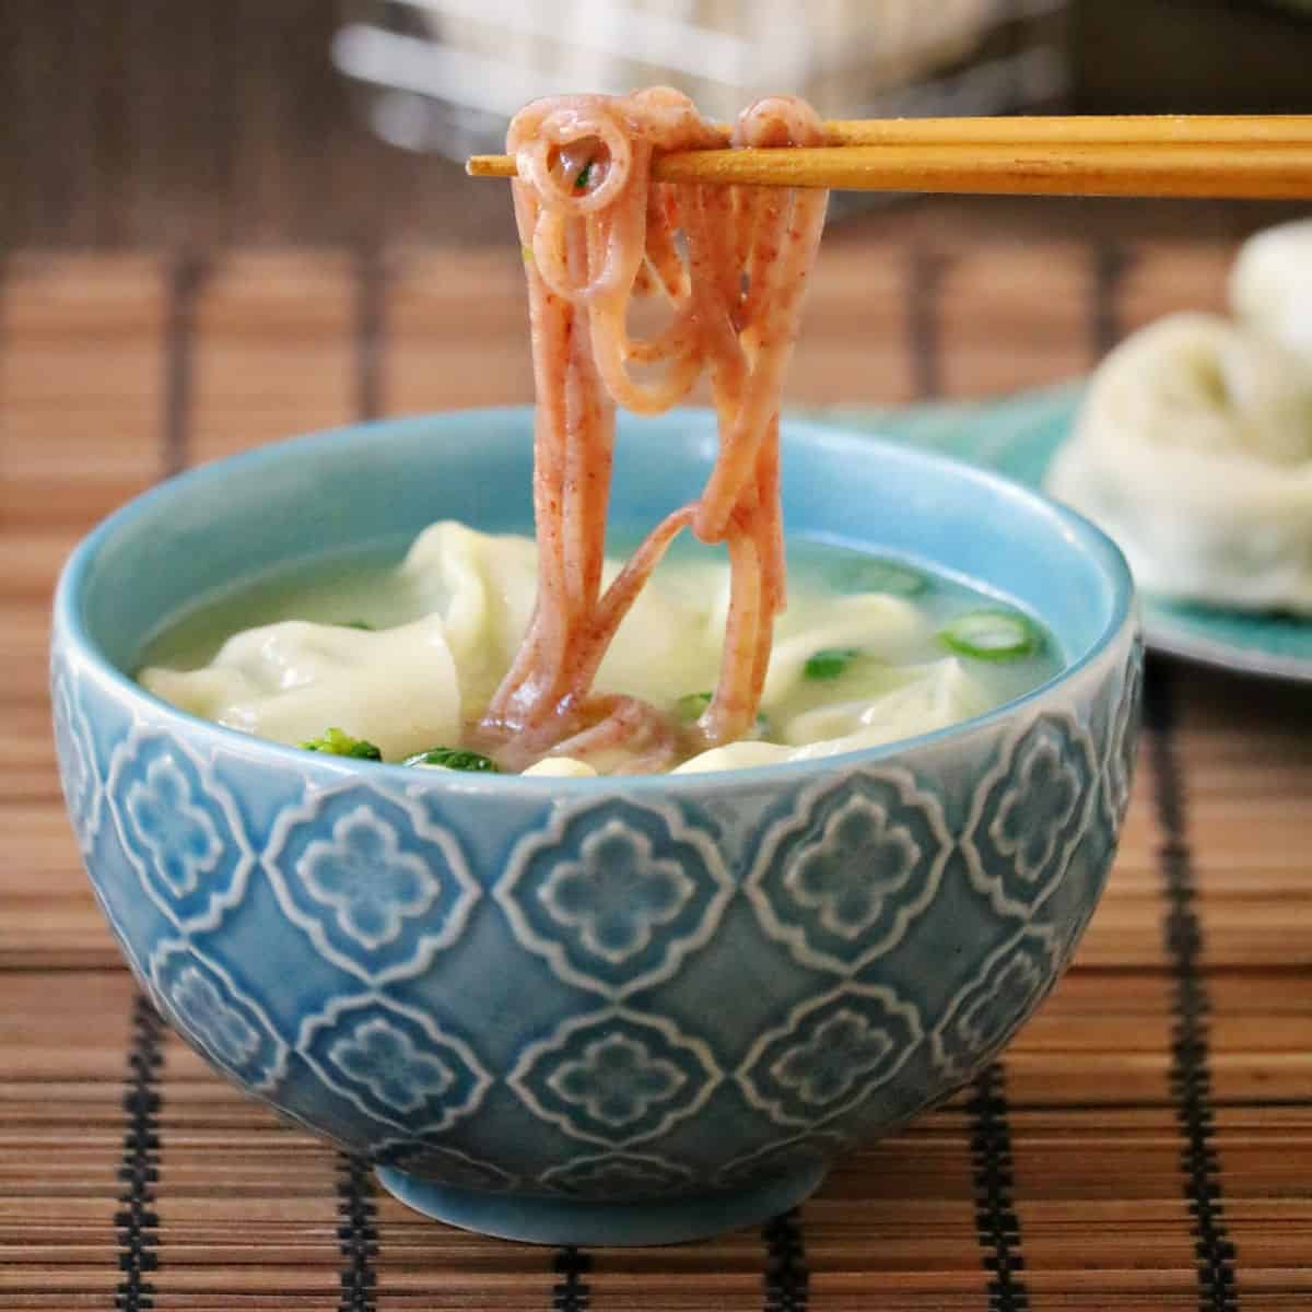
{"label": "speckled pink noodles hanging from the chopsticks into the soup", "polygon": [[[758,101],[732,146],[823,142],[810,106]],[[684,529],[724,543],[731,596],[719,681],[699,745],[749,732],[775,615],[786,600],[779,514],[779,394],[806,278],[824,226],[823,192],[651,180],[653,151],[723,146],[669,88],[565,96],[516,115],[514,213],[525,251],[537,388],[534,517],[538,600],[529,630],[472,731],[520,768],[547,754],[626,747],[628,769],[677,754],[668,719],[592,684],[615,630]],[[669,321],[628,333],[632,300],[660,298]],[[655,377],[639,380],[630,366]],[[657,415],[706,371],[719,455],[697,501],[672,512],[602,592],[615,405]]]}

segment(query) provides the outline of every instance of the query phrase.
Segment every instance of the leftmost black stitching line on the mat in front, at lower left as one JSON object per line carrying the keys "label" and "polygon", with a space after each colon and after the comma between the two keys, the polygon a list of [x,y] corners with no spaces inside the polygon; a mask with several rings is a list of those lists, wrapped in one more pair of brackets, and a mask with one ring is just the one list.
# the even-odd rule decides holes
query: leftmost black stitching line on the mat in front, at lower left
{"label": "leftmost black stitching line on the mat in front, at lower left", "polygon": [[121,1312],[144,1312],[155,1307],[150,1275],[159,1270],[159,1212],[155,1185],[159,1182],[160,1134],[159,1075],[164,1063],[160,1042],[164,1022],[140,993],[133,1001],[131,1047],[127,1054],[127,1088],[123,1090],[123,1160],[118,1178],[122,1204],[114,1214],[118,1229],[118,1282],[114,1307]]}

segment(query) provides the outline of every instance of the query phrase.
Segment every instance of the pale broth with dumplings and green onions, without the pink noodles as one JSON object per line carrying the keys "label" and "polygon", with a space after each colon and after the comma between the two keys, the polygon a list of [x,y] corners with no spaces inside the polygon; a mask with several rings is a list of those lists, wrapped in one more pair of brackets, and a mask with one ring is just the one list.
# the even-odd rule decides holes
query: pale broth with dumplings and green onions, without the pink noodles
{"label": "pale broth with dumplings and green onions, without the pink noodles", "polygon": [[[720,660],[731,579],[680,542],[621,623],[598,672],[674,727],[669,769],[813,760],[945,728],[1019,697],[1061,652],[977,586],[846,547],[789,546],[790,605],[774,622],[757,716],[707,747],[695,731]],[[341,732],[387,761],[513,768],[478,726],[531,621],[537,548],[454,522],[356,556],[289,565],[201,600],[148,644],[142,684],[232,728],[289,744]],[[605,579],[621,565],[607,559]],[[321,744],[333,749],[333,744]],[[527,773],[642,768],[640,736],[558,744]],[[373,754],[373,753],[370,753]],[[482,762],[482,765],[480,765]]]}

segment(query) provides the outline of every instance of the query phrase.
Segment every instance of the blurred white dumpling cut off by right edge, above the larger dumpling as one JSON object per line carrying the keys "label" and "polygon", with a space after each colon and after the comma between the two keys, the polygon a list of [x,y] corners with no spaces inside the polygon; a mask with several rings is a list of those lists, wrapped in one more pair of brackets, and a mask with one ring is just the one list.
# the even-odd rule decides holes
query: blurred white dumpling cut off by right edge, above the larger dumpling
{"label": "blurred white dumpling cut off by right edge, above the larger dumpling", "polygon": [[1229,279],[1231,308],[1312,366],[1312,219],[1249,237]]}

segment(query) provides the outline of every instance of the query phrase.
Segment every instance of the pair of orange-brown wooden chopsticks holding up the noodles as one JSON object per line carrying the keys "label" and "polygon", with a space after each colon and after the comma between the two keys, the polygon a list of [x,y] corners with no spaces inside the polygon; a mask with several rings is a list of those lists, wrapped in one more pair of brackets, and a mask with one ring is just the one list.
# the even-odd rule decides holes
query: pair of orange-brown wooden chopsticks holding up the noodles
{"label": "pair of orange-brown wooden chopsticks holding up the noodles", "polygon": [[[825,130],[828,146],[659,155],[652,176],[849,192],[1312,198],[1312,114],[890,118]],[[514,177],[514,157],[474,155],[466,169]]]}

